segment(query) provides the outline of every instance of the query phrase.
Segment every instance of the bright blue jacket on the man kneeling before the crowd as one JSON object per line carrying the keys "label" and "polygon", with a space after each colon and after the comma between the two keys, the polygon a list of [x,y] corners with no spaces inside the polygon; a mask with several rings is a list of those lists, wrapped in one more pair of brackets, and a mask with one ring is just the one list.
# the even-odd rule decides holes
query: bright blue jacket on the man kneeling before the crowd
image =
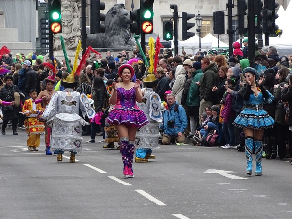
{"label": "bright blue jacket on the man kneeling before the crowd", "polygon": [[[179,132],[184,133],[184,129],[187,126],[187,117],[185,110],[182,105],[178,105],[178,112],[176,112],[174,109],[174,106],[178,103],[175,102],[175,104],[170,107],[168,110],[164,111],[162,124],[164,128],[164,134],[170,135],[170,136],[176,136]],[[167,122],[169,120],[174,120],[174,127],[167,126]]]}

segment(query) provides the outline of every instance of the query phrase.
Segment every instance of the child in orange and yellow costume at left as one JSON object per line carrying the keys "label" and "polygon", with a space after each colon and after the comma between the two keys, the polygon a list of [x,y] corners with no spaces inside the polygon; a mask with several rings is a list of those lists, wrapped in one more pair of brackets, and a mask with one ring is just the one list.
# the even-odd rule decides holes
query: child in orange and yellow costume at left
{"label": "child in orange and yellow costume at left", "polygon": [[27,146],[29,151],[38,151],[37,147],[39,147],[40,144],[40,135],[45,132],[44,123],[37,119],[37,112],[42,110],[42,107],[40,103],[35,103],[37,99],[36,89],[32,89],[29,95],[31,98],[24,102],[22,108],[22,112],[27,116],[27,119],[24,121],[24,126],[28,135]]}

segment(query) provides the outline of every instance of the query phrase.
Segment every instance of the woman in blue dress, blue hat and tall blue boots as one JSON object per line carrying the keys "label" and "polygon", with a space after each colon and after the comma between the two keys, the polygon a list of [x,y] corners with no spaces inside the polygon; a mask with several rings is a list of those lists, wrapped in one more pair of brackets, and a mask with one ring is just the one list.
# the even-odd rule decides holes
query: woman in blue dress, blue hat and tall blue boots
{"label": "woman in blue dress, blue hat and tall blue boots", "polygon": [[243,70],[245,86],[240,89],[244,99],[244,110],[234,120],[234,125],[243,128],[245,135],[245,154],[247,175],[252,174],[253,146],[256,149],[256,176],[262,174],[262,153],[264,128],[271,128],[274,120],[263,110],[263,103],[271,103],[274,96],[262,85],[264,77],[259,78],[256,69],[247,67]]}

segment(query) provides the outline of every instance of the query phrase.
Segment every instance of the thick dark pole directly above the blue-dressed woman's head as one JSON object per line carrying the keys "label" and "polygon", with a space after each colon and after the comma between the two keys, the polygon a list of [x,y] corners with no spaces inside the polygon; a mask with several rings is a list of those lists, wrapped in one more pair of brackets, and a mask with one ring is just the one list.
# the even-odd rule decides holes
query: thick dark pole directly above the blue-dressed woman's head
{"label": "thick dark pole directly above the blue-dressed woman's head", "polygon": [[248,59],[250,63],[255,58],[255,1],[248,0],[247,1],[247,23],[248,23]]}

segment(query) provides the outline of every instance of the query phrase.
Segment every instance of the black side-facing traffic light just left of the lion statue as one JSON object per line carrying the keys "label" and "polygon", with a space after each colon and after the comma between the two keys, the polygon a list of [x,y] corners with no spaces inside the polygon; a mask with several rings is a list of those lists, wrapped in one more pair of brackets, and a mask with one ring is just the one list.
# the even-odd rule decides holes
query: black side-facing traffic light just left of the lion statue
{"label": "black side-facing traffic light just left of the lion statue", "polygon": [[100,0],[91,0],[90,4],[90,33],[104,33],[106,31],[106,26],[100,22],[105,21],[106,15],[100,13],[100,11],[105,10],[106,4]]}

